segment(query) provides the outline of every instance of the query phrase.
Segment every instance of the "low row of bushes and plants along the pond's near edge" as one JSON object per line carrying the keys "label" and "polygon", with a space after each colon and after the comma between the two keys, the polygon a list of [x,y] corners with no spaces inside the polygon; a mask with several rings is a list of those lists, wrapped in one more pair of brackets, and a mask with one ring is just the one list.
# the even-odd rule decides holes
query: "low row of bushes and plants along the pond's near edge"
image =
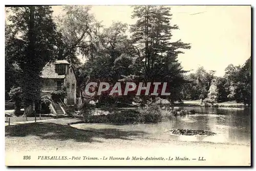
{"label": "low row of bushes and plants along the pond's near edge", "polygon": [[106,109],[108,115],[92,115],[94,106],[89,102],[83,104],[82,113],[86,123],[115,123],[115,124],[136,124],[136,123],[157,123],[163,119],[170,119],[174,116],[184,116],[193,112],[186,110],[161,109],[155,102],[148,102],[142,111]]}

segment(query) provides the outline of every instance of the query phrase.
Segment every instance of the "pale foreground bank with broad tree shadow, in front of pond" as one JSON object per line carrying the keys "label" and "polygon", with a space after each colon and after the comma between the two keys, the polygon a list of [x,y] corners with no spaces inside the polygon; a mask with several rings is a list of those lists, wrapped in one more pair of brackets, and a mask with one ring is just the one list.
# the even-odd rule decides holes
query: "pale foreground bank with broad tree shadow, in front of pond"
{"label": "pale foreground bank with broad tree shadow, in front of pond", "polygon": [[[13,157],[15,154],[24,152],[36,152],[41,155],[45,152],[58,151],[69,155],[77,155],[79,152],[79,154],[90,155],[90,157],[94,155],[96,157],[103,155],[167,157],[185,156],[189,153],[195,154],[196,157],[204,154],[203,157],[208,161],[216,161],[221,156],[221,160],[216,163],[248,164],[250,162],[249,145],[159,139],[155,138],[150,131],[135,130],[132,126],[83,125],[73,127],[50,122],[37,122],[5,126],[5,154]],[[215,155],[212,155],[212,152]],[[113,163],[117,162],[117,160],[113,160]],[[150,162],[152,163],[152,161]],[[86,165],[87,162],[84,163]],[[173,161],[166,164],[172,165]]]}

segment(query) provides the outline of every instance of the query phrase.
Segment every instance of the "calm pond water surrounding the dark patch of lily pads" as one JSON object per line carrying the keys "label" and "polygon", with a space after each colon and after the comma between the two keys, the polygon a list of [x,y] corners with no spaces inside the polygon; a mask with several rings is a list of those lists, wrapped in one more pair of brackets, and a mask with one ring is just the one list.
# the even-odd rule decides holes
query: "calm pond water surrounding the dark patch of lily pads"
{"label": "calm pond water surrounding the dark patch of lily pads", "polygon": [[[140,138],[173,141],[205,141],[214,143],[250,145],[251,110],[238,108],[205,108],[203,106],[175,107],[187,111],[195,110],[195,115],[176,117],[156,124],[76,124],[79,129],[118,129],[121,131],[141,131]],[[216,133],[211,136],[173,135],[168,129],[205,130]]]}

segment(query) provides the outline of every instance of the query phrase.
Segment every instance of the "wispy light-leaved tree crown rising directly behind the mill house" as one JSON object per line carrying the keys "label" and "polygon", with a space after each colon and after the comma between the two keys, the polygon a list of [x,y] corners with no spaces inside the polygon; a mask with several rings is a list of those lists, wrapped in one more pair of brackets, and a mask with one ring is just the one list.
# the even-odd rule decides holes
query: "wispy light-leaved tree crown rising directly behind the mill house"
{"label": "wispy light-leaved tree crown rising directly behind the mill house", "polygon": [[80,64],[78,55],[92,55],[95,51],[95,37],[102,27],[90,13],[91,6],[63,6],[57,16],[58,59]]}

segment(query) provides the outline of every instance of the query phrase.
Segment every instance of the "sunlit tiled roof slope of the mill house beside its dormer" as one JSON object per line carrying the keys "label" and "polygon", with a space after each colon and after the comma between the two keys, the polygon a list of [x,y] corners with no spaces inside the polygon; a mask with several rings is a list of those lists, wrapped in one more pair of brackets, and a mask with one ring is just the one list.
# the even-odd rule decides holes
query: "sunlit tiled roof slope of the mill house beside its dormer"
{"label": "sunlit tiled roof slope of the mill house beside its dormer", "polygon": [[41,71],[41,78],[65,78],[65,75],[58,75],[55,72],[54,63],[48,63]]}

